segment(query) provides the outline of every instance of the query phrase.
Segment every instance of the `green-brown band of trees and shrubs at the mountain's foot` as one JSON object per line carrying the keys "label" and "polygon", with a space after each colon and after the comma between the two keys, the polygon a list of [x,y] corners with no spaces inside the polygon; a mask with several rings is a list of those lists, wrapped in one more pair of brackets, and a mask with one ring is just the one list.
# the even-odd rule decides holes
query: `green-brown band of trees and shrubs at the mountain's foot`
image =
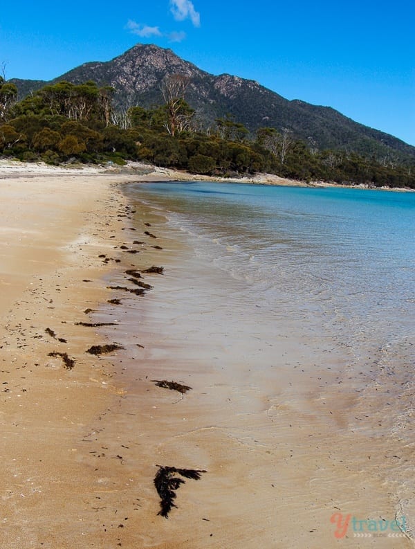
{"label": "green-brown band of trees and shrubs at the mountain's foot", "polygon": [[237,176],[268,172],[302,181],[366,183],[415,188],[415,165],[393,156],[378,161],[353,151],[318,150],[264,127],[254,136],[231,116],[207,125],[185,100],[190,80],[172,75],[160,90],[163,105],[115,109],[114,90],[48,84],[17,101],[17,88],[0,77],[0,155],[50,164],[145,161],[194,174]]}

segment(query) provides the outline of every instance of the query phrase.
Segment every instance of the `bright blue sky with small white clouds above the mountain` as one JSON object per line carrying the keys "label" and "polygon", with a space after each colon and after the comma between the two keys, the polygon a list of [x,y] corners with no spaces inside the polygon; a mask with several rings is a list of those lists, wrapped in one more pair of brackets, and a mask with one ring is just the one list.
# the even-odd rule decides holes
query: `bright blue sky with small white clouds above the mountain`
{"label": "bright blue sky with small white clouds above the mountain", "polygon": [[414,19],[413,0],[6,2],[0,63],[50,80],[152,43],[415,145]]}

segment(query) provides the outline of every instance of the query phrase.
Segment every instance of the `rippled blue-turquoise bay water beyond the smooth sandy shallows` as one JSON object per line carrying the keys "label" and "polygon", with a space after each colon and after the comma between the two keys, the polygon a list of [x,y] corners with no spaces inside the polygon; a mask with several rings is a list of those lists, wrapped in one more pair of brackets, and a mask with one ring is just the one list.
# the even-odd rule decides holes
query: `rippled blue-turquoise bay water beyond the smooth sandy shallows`
{"label": "rippled blue-turquoise bay water beyond the smooth sandy shallows", "polygon": [[239,183],[134,192],[200,258],[246,282],[246,307],[255,295],[276,318],[315,323],[351,349],[356,367],[395,345],[413,361],[415,193]]}

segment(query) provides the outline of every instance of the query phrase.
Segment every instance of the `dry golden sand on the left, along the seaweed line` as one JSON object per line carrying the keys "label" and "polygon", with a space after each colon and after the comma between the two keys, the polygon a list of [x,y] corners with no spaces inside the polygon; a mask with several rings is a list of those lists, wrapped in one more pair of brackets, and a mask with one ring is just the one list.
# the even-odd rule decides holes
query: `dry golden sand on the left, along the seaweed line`
{"label": "dry golden sand on the left, along the seaweed line", "polygon": [[114,181],[122,179],[96,169],[0,167],[3,548],[116,545],[97,541],[89,526],[83,541],[83,523],[100,507],[95,489],[112,487],[84,463],[92,449],[80,441],[99,430],[122,388],[111,363],[86,353],[102,336],[76,323],[91,322],[86,309],[111,298],[104,275],[116,262],[98,255],[120,255],[125,200]]}

